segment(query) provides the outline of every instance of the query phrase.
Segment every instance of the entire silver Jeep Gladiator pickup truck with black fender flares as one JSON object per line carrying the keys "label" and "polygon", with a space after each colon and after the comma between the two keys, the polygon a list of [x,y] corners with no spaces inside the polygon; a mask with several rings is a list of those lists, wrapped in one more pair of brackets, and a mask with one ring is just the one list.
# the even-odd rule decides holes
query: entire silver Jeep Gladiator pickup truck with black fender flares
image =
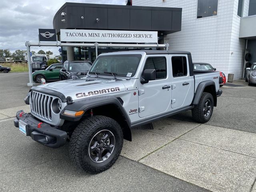
{"label": "entire silver Jeep Gladiator pickup truck with black fender flares", "polygon": [[84,78],[32,87],[14,125],[51,148],[70,139],[70,157],[82,170],[112,166],[131,129],[192,110],[195,121],[210,120],[219,72],[193,71],[190,52],[129,51],[101,54]]}

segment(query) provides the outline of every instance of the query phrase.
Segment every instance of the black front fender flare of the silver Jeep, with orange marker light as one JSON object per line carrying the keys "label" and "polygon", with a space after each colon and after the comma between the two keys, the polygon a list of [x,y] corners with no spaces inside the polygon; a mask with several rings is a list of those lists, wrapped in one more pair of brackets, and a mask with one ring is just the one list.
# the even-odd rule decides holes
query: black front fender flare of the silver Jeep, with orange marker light
{"label": "black front fender flare of the silver Jeep, with orange marker light", "polygon": [[[92,108],[113,104],[115,105],[120,114],[122,114],[124,121],[126,122],[126,126],[124,127],[124,138],[126,140],[132,141],[132,133],[130,130],[131,127],[131,121],[128,117],[128,114],[124,110],[122,103],[116,98],[115,96],[99,96],[99,97],[92,97],[92,98],[84,98],[81,100],[76,100],[72,104],[67,105],[64,110],[71,110],[71,111],[88,111]],[[60,118],[64,120],[70,120],[70,121],[79,121],[81,120],[82,116],[79,117],[68,117],[66,115],[63,115],[64,110],[60,112]]]}

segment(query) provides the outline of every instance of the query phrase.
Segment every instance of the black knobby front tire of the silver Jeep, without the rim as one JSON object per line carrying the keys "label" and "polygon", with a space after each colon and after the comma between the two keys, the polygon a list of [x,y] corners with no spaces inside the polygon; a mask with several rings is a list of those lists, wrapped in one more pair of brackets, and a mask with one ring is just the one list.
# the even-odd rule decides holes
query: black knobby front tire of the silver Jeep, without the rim
{"label": "black knobby front tire of the silver Jeep, without the rim", "polygon": [[[89,145],[95,134],[101,130],[109,130],[115,138],[112,154],[103,162],[94,162],[89,155]],[[78,124],[70,138],[70,158],[78,168],[97,174],[110,168],[118,159],[123,146],[122,128],[112,118],[106,116],[92,116]]]}

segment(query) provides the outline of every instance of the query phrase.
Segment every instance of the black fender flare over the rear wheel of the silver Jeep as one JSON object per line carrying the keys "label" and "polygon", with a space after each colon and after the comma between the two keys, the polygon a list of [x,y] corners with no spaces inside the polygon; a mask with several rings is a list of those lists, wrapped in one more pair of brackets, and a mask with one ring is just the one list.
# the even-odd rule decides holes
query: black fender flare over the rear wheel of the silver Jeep
{"label": "black fender flare over the rear wheel of the silver Jeep", "polygon": [[198,87],[196,89],[196,93],[195,93],[193,101],[192,101],[193,105],[198,105],[199,104],[202,93],[204,92],[204,89],[208,86],[213,86],[214,87],[214,90],[212,90],[211,94],[213,96],[214,106],[217,106],[216,86],[215,86],[214,81],[212,81],[212,80],[207,80],[207,81],[201,82],[198,85]]}

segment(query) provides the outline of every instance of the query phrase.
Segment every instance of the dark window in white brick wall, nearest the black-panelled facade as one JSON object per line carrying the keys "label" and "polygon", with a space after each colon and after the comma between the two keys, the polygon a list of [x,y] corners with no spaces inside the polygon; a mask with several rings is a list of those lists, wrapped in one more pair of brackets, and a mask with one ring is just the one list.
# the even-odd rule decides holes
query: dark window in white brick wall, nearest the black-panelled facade
{"label": "dark window in white brick wall, nearest the black-panelled facade", "polygon": [[197,18],[217,15],[218,0],[198,0]]}

